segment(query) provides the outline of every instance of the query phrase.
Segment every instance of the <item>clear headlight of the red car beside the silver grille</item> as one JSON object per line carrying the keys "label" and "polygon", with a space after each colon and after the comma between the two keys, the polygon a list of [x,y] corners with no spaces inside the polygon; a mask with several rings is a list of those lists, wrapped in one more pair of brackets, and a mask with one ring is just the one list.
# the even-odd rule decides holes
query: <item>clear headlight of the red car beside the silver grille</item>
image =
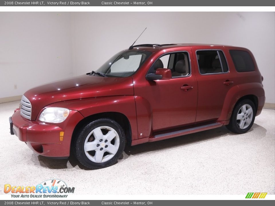
{"label": "clear headlight of the red car beside the silver grille", "polygon": [[44,109],[40,114],[39,120],[42,122],[60,123],[63,122],[68,115],[70,110],[61,107],[49,107]]}

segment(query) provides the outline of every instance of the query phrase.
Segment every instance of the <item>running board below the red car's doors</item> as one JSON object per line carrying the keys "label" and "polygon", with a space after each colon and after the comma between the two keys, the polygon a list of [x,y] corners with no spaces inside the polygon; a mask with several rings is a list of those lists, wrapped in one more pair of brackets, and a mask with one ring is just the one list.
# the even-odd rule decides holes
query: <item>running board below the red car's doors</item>
{"label": "running board below the red car's doors", "polygon": [[204,124],[204,125],[186,128],[186,129],[165,132],[165,133],[156,134],[156,135],[150,137],[149,142],[168,139],[168,138],[172,138],[172,137],[176,137],[176,136],[182,136],[184,134],[191,134],[191,133],[209,130],[209,129],[213,129],[213,128],[217,128],[217,127],[221,127],[221,126],[223,126],[223,122],[214,122],[211,124]]}

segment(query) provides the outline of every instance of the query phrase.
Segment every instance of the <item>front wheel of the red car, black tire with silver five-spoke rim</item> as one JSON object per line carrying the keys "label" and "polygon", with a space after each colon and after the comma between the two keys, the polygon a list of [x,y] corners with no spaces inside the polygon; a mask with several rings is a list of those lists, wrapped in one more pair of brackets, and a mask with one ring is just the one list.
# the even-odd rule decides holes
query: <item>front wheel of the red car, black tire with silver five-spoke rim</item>
{"label": "front wheel of the red car, black tire with silver five-spoke rim", "polygon": [[[102,129],[103,127],[103,129]],[[106,128],[105,128],[106,127]],[[111,129],[115,130],[115,132]],[[101,142],[99,142],[98,139],[101,140],[101,138],[95,138],[96,137],[96,130],[97,131],[101,131],[103,134],[103,140]],[[93,131],[93,133],[88,137],[88,135]],[[111,141],[107,143],[105,143],[105,135],[108,134],[108,132],[112,131],[114,133],[114,135],[116,135]],[[95,133],[95,136],[94,136]],[[85,141],[88,141],[85,143]],[[84,150],[84,145],[87,146],[87,143],[91,142],[91,144],[93,144],[93,147],[96,147],[95,150],[91,150],[91,151],[86,151]],[[92,122],[90,122],[89,124],[87,124],[86,126],[84,126],[82,129],[80,129],[80,132],[78,133],[77,137],[74,140],[74,144],[73,144],[73,149],[74,149],[74,154],[76,156],[76,158],[78,159],[78,161],[84,165],[85,167],[89,168],[89,169],[100,169],[100,168],[104,168],[104,167],[108,167],[110,165],[113,165],[117,162],[117,160],[119,159],[119,157],[121,157],[122,152],[125,148],[125,134],[123,129],[121,128],[121,126],[115,122],[112,119],[109,118],[101,118],[98,120],[94,120]],[[100,146],[98,146],[100,143]],[[111,146],[111,144],[113,144],[113,146]],[[96,146],[94,146],[96,145]],[[107,145],[107,148],[106,148]],[[109,149],[112,148],[116,148],[117,152],[113,152],[115,154],[109,153],[107,151],[108,149],[108,145],[109,145]],[[102,148],[102,150],[101,150]],[[96,162],[96,153],[99,152],[98,154],[102,154],[102,152],[104,153],[104,156],[102,157],[102,162]],[[94,155],[94,156],[93,156]],[[109,156],[108,156],[109,155]],[[99,155],[100,156],[100,155]],[[106,158],[107,157],[107,158]],[[106,158],[106,161],[104,160],[104,158]],[[110,159],[109,159],[110,158]],[[93,161],[91,160],[93,159]],[[100,157],[99,157],[100,159]]]}

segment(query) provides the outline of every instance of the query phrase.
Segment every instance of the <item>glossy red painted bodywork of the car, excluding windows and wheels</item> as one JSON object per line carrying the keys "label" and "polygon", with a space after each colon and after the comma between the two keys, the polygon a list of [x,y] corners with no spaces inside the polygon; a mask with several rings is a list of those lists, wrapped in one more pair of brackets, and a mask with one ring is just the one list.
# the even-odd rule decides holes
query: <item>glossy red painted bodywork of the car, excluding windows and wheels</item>
{"label": "glossy red painted bodywork of the car, excluding windows and wheels", "polygon": [[[229,72],[201,75],[196,56],[196,51],[200,49],[222,50]],[[247,51],[252,56],[255,71],[237,72],[229,54],[230,49]],[[226,125],[236,102],[246,95],[254,95],[258,100],[257,115],[263,108],[262,76],[248,49],[178,44],[139,47],[139,50],[151,51],[152,55],[130,77],[82,75],[27,91],[24,95],[32,104],[31,120],[21,117],[19,109],[12,116],[13,129],[19,140],[27,142],[30,148],[41,155],[68,157],[74,128],[82,119],[94,114],[117,112],[126,116],[131,128],[131,145],[135,145]],[[157,74],[163,76],[162,80],[146,80],[152,64],[162,54],[175,51],[188,52],[190,76],[171,78],[170,70],[158,69]],[[70,114],[62,123],[40,122],[39,115],[47,107],[68,108]],[[213,122],[220,124],[154,138],[157,134]],[[64,131],[63,141],[59,140],[60,131]]]}

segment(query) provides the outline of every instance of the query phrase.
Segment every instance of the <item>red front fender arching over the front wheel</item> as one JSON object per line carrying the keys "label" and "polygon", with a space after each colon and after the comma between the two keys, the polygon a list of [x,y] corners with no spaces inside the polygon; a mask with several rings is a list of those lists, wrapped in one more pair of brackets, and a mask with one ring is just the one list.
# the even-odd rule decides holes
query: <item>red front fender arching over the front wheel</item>
{"label": "red front fender arching over the front wheel", "polygon": [[64,102],[56,102],[47,107],[65,107],[69,110],[76,110],[80,112],[84,118],[103,112],[119,112],[124,114],[130,122],[132,140],[137,139],[135,98],[132,95],[68,100]]}

